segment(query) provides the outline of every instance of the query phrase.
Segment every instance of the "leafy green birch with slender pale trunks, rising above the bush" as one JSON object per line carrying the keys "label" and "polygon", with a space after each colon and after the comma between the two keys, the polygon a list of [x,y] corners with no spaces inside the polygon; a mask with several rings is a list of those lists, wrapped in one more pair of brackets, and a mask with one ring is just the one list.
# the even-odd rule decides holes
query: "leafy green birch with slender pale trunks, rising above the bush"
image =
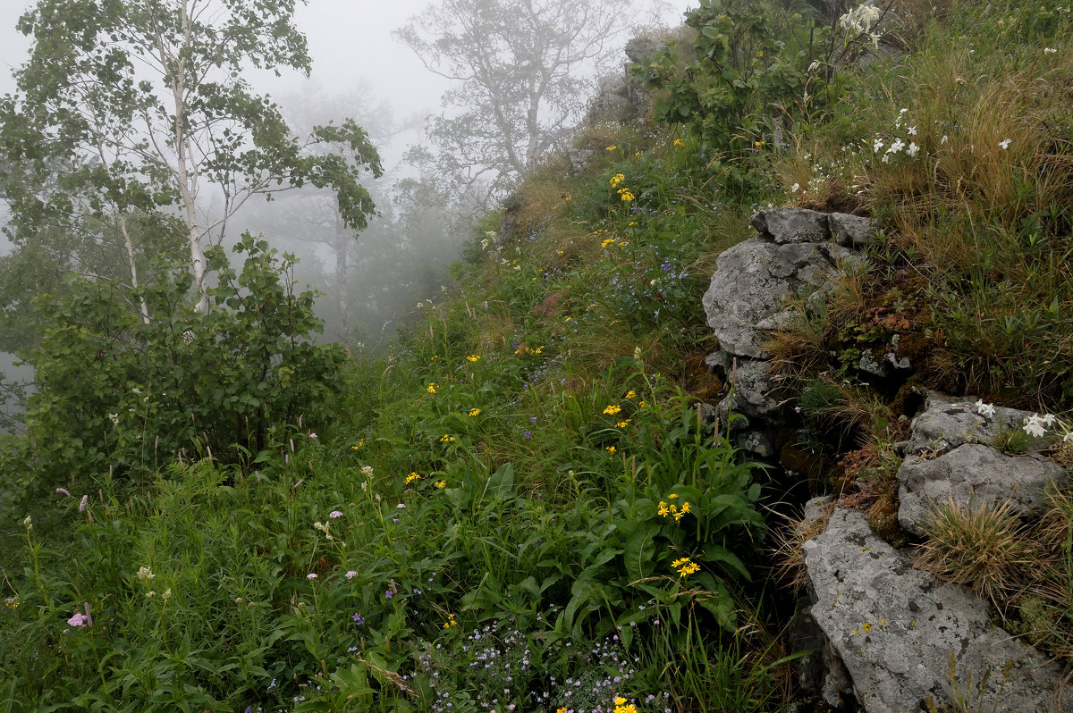
{"label": "leafy green birch with slender pale trunks, rising above the bush", "polygon": [[365,131],[344,120],[293,136],[244,77],[308,75],[293,23],[305,1],[39,0],[18,23],[29,60],[0,102],[15,242],[93,225],[135,288],[147,253],[181,246],[207,312],[205,250],[252,196],[329,188],[347,226],[365,227],[374,206],[359,177],[381,173]]}

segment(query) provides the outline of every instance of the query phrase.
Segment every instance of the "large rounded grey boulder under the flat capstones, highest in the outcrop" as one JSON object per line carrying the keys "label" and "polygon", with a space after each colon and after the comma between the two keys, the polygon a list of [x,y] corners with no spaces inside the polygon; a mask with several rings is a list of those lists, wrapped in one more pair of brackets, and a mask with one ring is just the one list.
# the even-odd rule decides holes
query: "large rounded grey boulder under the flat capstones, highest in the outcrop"
{"label": "large rounded grey boulder under the flat capstones, highest in the outcrop", "polygon": [[834,243],[775,244],[752,238],[724,251],[704,294],[708,325],[727,354],[764,359],[764,331],[758,325],[783,309],[803,287],[822,285],[842,261],[862,259]]}

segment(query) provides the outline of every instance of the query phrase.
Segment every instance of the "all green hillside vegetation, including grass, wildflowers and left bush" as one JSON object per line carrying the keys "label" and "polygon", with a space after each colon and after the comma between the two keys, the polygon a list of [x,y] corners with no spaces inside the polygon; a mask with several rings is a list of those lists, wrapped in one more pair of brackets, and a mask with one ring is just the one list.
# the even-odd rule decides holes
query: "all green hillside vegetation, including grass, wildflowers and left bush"
{"label": "all green hillside vegetation, including grass, wildflowers and left bush", "polygon": [[[913,387],[1069,411],[1070,24],[705,0],[634,70],[650,116],[583,127],[382,354],[313,346],[253,238],[166,329],[65,297],[0,451],[0,711],[784,710],[815,531],[773,536],[802,489],[704,407],[715,257],[761,208],[877,221],[771,345],[807,490],[894,532]],[[912,377],[863,381],[896,333]],[[1067,663],[1071,502],[947,508],[923,556]]]}

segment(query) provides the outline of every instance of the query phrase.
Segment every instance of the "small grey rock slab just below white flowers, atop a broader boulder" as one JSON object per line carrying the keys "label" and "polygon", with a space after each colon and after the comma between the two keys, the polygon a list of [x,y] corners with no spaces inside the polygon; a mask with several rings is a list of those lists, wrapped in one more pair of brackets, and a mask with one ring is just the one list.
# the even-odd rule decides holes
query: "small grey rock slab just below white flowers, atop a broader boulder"
{"label": "small grey rock slab just below white flowers, atop a broader boulder", "polygon": [[962,443],[994,443],[1002,430],[1020,428],[1027,411],[996,406],[994,416],[982,416],[975,402],[929,395],[924,411],[913,418],[909,452],[940,452]]}

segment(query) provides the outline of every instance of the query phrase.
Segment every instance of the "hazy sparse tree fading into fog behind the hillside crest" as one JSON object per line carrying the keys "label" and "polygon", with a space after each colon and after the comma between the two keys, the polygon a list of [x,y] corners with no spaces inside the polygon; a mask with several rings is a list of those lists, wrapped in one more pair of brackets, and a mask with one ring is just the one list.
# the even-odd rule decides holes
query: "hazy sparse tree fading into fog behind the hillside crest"
{"label": "hazy sparse tree fading into fog behind the hillside crest", "polygon": [[500,196],[561,146],[591,95],[596,68],[626,26],[611,0],[443,0],[397,31],[430,71],[460,83],[428,129],[426,167]]}

